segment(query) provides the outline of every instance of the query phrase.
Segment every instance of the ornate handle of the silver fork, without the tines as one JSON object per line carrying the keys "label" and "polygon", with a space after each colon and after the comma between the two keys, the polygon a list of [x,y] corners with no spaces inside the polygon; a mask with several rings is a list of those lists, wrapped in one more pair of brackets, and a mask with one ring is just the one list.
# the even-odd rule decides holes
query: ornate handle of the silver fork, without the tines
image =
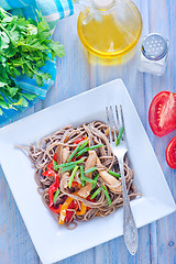
{"label": "ornate handle of the silver fork, without the tines", "polygon": [[124,164],[123,158],[119,161],[121,180],[122,180],[122,189],[123,189],[123,235],[124,242],[129,250],[129,252],[134,255],[138,250],[139,237],[138,229],[135,226],[135,221],[133,218],[133,213],[130,206],[130,200],[128,196],[125,177],[124,177]]}

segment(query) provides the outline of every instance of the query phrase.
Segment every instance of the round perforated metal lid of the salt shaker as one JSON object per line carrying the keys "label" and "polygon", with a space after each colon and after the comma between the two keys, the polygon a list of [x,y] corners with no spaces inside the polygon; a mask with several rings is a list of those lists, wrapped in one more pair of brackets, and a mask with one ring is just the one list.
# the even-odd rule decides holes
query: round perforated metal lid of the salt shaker
{"label": "round perforated metal lid of the salt shaker", "polygon": [[150,61],[160,61],[168,53],[167,41],[157,33],[148,34],[142,43],[142,53]]}

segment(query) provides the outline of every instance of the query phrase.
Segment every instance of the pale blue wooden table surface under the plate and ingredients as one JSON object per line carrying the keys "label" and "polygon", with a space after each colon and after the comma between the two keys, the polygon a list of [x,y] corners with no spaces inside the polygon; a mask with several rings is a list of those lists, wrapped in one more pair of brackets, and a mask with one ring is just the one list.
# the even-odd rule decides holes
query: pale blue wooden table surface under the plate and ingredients
{"label": "pale blue wooden table surface under the plate and ingredients", "polygon": [[[45,101],[40,101],[19,119],[53,103],[78,95],[116,78],[122,78],[152,142],[168,186],[176,199],[176,172],[165,162],[165,148],[176,134],[157,139],[147,120],[150,102],[161,90],[176,91],[176,1],[135,0],[143,19],[143,35],[158,32],[169,38],[169,57],[166,74],[155,77],[136,70],[133,58],[122,66],[91,65],[77,35],[77,14],[58,21],[54,38],[66,50],[66,57],[57,62],[57,77]],[[15,121],[15,120],[13,120]],[[118,224],[118,223],[117,223]],[[123,238],[118,238],[78,255],[61,261],[59,264],[175,264],[176,263],[176,213],[153,222],[139,230],[139,251],[131,256]],[[0,168],[0,264],[41,263],[11,190]]]}

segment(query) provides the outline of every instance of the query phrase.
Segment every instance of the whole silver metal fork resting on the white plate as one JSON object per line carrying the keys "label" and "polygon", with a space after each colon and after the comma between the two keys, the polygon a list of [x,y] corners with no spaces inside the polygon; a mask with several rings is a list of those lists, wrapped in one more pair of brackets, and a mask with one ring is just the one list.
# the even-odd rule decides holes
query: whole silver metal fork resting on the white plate
{"label": "whole silver metal fork resting on the white plate", "polygon": [[[124,119],[122,107],[120,106],[120,111],[118,111],[118,107],[116,106],[116,116],[117,122],[113,117],[113,109],[112,107],[106,108],[107,112],[107,120],[109,125],[109,136],[110,136],[110,144],[112,152],[118,158],[120,173],[121,173],[121,182],[122,182],[122,190],[123,190],[123,234],[124,234],[124,242],[129,250],[129,252],[134,255],[138,250],[138,229],[135,226],[135,221],[132,215],[132,210],[130,207],[130,200],[128,196],[127,185],[125,185],[125,177],[124,177],[124,156],[128,152],[128,144],[127,144],[127,136],[125,136],[125,129],[124,129]],[[119,114],[120,112],[120,114]],[[123,131],[119,145],[116,145],[117,142],[117,129],[118,131]],[[112,134],[113,131],[113,134]]]}

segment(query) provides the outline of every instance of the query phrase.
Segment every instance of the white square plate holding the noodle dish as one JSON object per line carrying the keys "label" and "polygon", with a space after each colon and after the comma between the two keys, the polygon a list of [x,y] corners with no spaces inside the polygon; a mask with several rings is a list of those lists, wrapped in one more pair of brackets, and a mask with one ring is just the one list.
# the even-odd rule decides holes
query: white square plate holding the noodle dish
{"label": "white square plate holding the noodle dish", "polygon": [[113,80],[59,102],[0,130],[2,169],[35,249],[45,264],[61,261],[121,235],[122,209],[107,218],[80,222],[73,231],[59,227],[36,191],[31,162],[21,151],[15,150],[14,145],[28,145],[66,124],[79,125],[92,120],[106,122],[105,109],[110,105],[123,107],[134,184],[143,195],[142,198],[131,201],[138,228],[176,209],[152,145],[122,80]]}

